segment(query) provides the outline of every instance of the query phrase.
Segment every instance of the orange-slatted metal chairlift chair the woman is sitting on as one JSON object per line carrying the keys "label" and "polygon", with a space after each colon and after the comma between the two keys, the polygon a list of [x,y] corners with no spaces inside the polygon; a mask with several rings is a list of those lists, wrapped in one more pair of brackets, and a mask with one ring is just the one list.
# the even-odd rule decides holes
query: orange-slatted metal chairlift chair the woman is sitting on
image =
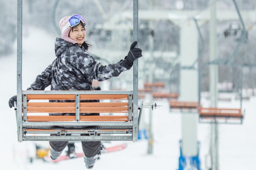
{"label": "orange-slatted metal chairlift chair the woman is sitting on", "polygon": [[[133,0],[133,40],[138,39],[138,0]],[[80,100],[114,102],[81,103]],[[30,100],[30,102],[27,102]],[[72,103],[31,102],[75,100]],[[126,100],[126,102],[115,102]],[[138,60],[133,63],[133,91],[27,91],[22,90],[22,0],[17,1],[17,103],[18,141],[137,141],[143,101],[138,105]],[[150,105],[150,108],[156,108]],[[139,115],[138,115],[139,111]],[[31,115],[75,113],[75,116]],[[119,116],[80,116],[80,113],[120,113]],[[127,115],[128,114],[128,115]],[[59,127],[61,126],[61,127]],[[63,128],[86,126],[86,128]],[[41,134],[35,136],[32,134]],[[57,134],[57,136],[49,136]],[[66,134],[88,134],[70,136]],[[102,134],[102,135],[99,135]],[[121,134],[121,135],[120,135]]]}

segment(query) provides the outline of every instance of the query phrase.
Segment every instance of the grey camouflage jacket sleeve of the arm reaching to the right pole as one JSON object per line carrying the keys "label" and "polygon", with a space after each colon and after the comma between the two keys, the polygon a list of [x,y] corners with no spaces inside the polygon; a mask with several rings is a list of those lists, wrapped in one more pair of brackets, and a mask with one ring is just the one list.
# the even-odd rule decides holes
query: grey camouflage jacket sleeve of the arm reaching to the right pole
{"label": "grey camouflage jacket sleeve of the arm reaching to the right pole", "polygon": [[93,56],[87,52],[81,51],[73,54],[74,55],[70,55],[69,57],[70,63],[87,77],[98,81],[104,81],[110,79],[111,77],[117,77],[123,71],[128,70],[123,65],[122,61],[115,64],[102,66],[99,61],[94,60]]}

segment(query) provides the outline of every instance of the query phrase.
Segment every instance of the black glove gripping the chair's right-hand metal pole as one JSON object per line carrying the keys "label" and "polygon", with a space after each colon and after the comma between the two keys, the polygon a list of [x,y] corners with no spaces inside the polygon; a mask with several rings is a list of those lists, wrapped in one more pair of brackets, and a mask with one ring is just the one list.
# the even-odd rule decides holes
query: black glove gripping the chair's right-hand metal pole
{"label": "black glove gripping the chair's right-hand metal pole", "polygon": [[127,69],[130,69],[133,66],[133,61],[135,59],[142,57],[141,49],[134,48],[136,44],[137,44],[137,41],[134,41],[132,43],[128,55],[123,60],[123,64]]}

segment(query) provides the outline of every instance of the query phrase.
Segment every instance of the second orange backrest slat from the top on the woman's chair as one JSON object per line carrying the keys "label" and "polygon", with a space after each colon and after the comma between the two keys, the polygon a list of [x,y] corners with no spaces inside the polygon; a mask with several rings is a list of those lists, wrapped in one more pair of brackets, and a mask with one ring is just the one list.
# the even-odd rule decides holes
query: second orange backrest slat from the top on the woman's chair
{"label": "second orange backrest slat from the top on the woman's chair", "polygon": [[[27,107],[75,107],[75,102],[28,102]],[[127,102],[103,103],[103,102],[80,102],[80,107],[122,107],[128,106]]]}

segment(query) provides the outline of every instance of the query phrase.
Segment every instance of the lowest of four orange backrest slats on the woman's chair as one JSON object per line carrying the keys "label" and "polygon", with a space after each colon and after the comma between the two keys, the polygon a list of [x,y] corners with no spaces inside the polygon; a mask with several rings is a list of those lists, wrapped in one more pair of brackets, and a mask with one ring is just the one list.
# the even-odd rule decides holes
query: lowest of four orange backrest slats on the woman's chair
{"label": "lowest of four orange backrest slats on the woman's chair", "polygon": [[[27,121],[75,121],[76,116],[27,116]],[[128,121],[128,116],[80,116],[80,121]]]}

